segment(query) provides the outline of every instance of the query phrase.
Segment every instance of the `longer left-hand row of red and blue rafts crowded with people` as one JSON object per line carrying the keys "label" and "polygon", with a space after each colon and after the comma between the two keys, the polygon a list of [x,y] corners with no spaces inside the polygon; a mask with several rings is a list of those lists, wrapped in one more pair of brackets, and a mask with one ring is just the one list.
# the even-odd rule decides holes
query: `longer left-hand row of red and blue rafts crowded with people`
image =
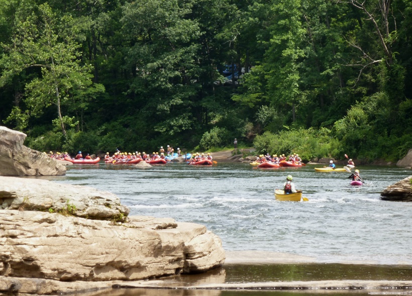
{"label": "longer left-hand row of red and blue rafts crowded with people", "polygon": [[[180,152],[180,151],[179,151]],[[79,154],[81,154],[81,151],[76,155],[76,158],[71,158],[70,156],[64,157],[64,160],[70,161],[72,163],[76,164],[96,164],[100,161],[99,157],[96,157],[95,159],[86,159],[82,158],[82,156],[78,157]],[[172,161],[173,159],[176,159],[178,157],[182,157],[183,160],[186,160],[188,164],[191,165],[213,165],[213,163],[216,163],[212,160],[212,155],[208,153],[205,155],[204,153],[186,153],[186,154],[181,154],[180,153],[172,153],[168,155],[164,155],[164,153],[159,152],[153,152],[152,154],[146,154],[145,152],[140,153],[140,152],[133,152],[133,153],[127,153],[127,152],[120,152],[117,151],[114,153],[112,156],[110,156],[110,153],[107,152],[105,155],[105,163],[108,164],[138,164],[141,161],[146,161],[149,164],[166,164],[169,161]]]}

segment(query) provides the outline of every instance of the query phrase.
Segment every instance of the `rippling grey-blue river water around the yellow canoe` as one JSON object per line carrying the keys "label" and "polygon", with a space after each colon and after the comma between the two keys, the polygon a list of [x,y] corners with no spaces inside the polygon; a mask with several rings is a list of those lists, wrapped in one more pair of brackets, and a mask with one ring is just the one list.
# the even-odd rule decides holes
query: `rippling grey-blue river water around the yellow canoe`
{"label": "rippling grey-blue river water around the yellow canoe", "polygon": [[[411,265],[412,203],[380,200],[380,192],[409,176],[410,169],[362,166],[366,185],[350,186],[349,173],[314,167],[168,163],[139,169],[100,163],[72,165],[65,176],[49,179],[113,192],[130,215],[205,225],[228,252],[282,252],[317,263]],[[288,174],[308,202],[275,201],[273,190]]]}

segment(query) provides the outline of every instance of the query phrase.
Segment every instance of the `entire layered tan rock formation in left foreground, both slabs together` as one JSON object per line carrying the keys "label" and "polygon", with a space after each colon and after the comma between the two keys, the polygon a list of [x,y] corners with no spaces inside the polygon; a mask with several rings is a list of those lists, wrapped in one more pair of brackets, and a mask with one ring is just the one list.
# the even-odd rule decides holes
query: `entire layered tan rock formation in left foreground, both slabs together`
{"label": "entire layered tan rock formation in left foreground, both slabs together", "polygon": [[0,294],[107,287],[225,260],[220,238],[204,226],[127,217],[114,194],[92,188],[0,177],[0,204]]}

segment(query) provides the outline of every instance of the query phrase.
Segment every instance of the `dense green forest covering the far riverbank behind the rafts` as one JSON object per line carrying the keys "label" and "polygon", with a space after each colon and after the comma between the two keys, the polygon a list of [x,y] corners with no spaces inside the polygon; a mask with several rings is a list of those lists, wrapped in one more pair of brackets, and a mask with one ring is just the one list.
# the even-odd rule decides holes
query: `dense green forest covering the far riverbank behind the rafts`
{"label": "dense green forest covering the far riverbank behind the rafts", "polygon": [[0,124],[39,151],[412,148],[412,0],[0,0]]}

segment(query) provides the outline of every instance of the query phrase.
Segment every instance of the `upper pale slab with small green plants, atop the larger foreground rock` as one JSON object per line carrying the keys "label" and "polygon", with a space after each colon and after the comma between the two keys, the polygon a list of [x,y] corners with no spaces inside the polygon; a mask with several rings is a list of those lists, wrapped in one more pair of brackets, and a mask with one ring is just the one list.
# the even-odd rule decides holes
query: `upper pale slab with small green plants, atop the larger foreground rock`
{"label": "upper pale slab with small green plants, atop the larger foreground rock", "polygon": [[43,179],[0,176],[0,209],[68,213],[89,219],[123,220],[130,210],[113,193]]}

